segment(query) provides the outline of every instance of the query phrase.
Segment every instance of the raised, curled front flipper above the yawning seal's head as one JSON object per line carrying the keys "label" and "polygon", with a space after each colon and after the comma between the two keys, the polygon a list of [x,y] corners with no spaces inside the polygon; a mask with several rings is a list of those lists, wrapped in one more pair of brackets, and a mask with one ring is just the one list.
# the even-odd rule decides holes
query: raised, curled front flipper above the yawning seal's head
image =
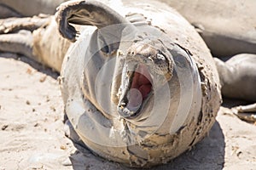
{"label": "raised, curled front flipper above the yawning seal's head", "polygon": [[130,23],[112,8],[108,8],[107,5],[96,1],[70,1],[61,3],[61,6],[57,10],[55,20],[61,36],[71,42],[76,41],[79,32],[71,24],[96,26],[98,29],[115,25],[111,30],[102,29],[101,34],[102,37],[108,37],[108,34],[112,31],[119,37],[121,31],[126,27],[125,24]]}

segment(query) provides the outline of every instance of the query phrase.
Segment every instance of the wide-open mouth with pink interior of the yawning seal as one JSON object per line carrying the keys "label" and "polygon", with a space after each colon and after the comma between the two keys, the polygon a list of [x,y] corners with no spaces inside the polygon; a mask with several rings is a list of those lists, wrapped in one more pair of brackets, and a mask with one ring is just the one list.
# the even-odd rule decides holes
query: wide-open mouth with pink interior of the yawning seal
{"label": "wide-open mouth with pink interior of the yawning seal", "polygon": [[129,77],[130,83],[125,89],[125,96],[119,103],[121,116],[137,116],[152,91],[152,78],[148,66],[139,64]]}

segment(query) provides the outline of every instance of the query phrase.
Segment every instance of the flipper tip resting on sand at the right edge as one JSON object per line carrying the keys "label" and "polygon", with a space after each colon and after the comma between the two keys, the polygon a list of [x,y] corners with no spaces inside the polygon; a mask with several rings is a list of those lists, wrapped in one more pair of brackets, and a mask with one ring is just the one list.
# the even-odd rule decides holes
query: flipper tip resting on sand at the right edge
{"label": "flipper tip resting on sand at the right edge", "polygon": [[242,120],[256,122],[256,103],[253,105],[240,105],[232,108],[231,111]]}

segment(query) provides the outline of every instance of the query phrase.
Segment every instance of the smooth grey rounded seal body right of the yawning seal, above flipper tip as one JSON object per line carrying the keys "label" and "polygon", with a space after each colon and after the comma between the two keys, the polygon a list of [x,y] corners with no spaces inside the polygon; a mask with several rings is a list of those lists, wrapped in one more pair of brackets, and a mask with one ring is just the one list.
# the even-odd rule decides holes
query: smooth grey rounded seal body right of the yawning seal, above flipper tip
{"label": "smooth grey rounded seal body right of the yawning seal, above flipper tip", "polygon": [[215,58],[215,63],[224,96],[256,101],[256,54],[237,54],[225,62]]}

